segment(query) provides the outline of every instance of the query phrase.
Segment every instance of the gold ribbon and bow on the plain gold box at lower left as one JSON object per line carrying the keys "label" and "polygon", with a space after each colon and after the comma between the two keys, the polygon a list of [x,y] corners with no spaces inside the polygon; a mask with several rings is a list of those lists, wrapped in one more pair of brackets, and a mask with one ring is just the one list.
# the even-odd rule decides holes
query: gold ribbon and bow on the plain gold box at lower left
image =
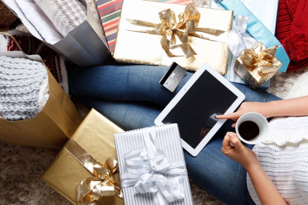
{"label": "gold ribbon and bow on the plain gold box at lower left", "polygon": [[76,187],[79,205],[97,205],[105,196],[118,196],[123,199],[118,162],[111,156],[105,163],[96,161],[73,139],[65,149],[94,176],[84,179]]}

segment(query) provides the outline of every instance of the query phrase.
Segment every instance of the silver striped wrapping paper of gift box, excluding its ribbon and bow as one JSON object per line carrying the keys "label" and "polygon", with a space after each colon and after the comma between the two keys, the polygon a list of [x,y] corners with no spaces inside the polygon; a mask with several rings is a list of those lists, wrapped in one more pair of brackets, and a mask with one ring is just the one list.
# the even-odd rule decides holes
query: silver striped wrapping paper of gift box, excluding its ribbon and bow
{"label": "silver striped wrapping paper of gift box, excluding its ribbon and bow", "polygon": [[[163,151],[165,157],[170,163],[176,163],[184,161],[183,148],[181,145],[180,133],[177,124],[169,124],[163,126],[156,126],[156,147]],[[126,174],[124,171],[124,154],[144,147],[143,130],[133,130],[123,132],[114,135],[115,147],[118,156],[120,176]],[[167,175],[167,179],[172,179],[172,175]],[[192,205],[193,199],[189,187],[189,180],[187,175],[183,175],[184,178],[184,199],[176,200],[170,204],[173,205]],[[123,181],[122,181],[123,183]],[[123,188],[125,205],[155,205],[153,196],[151,193],[146,194],[134,194],[135,187]],[[164,203],[165,204],[165,203]],[[166,203],[168,204],[168,203]]]}

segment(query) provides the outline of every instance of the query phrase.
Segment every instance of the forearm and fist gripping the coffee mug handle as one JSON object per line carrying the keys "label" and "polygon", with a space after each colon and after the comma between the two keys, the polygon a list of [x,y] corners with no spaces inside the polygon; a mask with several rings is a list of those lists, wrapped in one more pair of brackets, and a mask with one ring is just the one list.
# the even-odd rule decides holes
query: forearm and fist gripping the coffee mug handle
{"label": "forearm and fist gripping the coffee mug handle", "polygon": [[[233,147],[230,143],[233,143]],[[247,171],[261,204],[287,204],[277,191],[258,161],[257,155],[243,145],[233,132],[228,132],[222,142],[221,152],[240,163]]]}

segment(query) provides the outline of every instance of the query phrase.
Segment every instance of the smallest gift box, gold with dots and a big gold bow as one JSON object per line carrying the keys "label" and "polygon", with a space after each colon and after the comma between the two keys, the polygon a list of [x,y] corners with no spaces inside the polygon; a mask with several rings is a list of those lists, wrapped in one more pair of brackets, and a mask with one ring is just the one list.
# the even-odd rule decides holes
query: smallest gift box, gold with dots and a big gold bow
{"label": "smallest gift box, gold with dots and a big gold bow", "polygon": [[235,62],[234,71],[251,89],[256,89],[272,78],[282,66],[275,58],[277,48],[279,46],[266,48],[259,42],[254,47],[243,50]]}

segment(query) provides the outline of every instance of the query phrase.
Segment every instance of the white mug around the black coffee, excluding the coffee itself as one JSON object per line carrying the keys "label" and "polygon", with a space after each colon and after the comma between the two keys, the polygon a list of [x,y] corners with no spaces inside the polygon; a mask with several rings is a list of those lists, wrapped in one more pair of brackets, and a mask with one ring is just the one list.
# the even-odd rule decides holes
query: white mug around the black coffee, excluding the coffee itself
{"label": "white mug around the black coffee, excluding the coffee itself", "polygon": [[[253,121],[259,127],[259,135],[253,140],[248,141],[248,140],[243,139],[238,131],[238,127],[241,125],[241,123],[245,121]],[[265,141],[267,135],[269,134],[269,123],[267,122],[267,119],[263,117],[263,115],[260,115],[259,113],[256,113],[256,112],[249,112],[249,113],[242,115],[237,120],[235,130],[236,130],[236,134],[238,138],[241,141],[247,144],[257,144],[257,143],[261,143]]]}

